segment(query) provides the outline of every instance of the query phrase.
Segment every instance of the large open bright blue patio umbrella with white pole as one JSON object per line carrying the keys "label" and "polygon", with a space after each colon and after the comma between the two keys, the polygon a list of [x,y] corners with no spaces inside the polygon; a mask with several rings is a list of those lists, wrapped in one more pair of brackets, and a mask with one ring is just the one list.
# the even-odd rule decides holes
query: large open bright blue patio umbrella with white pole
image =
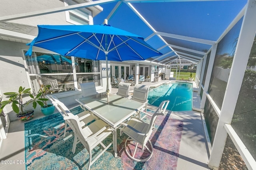
{"label": "large open bright blue patio umbrella with white pole", "polygon": [[[142,61],[162,55],[144,38],[110,25],[38,25],[38,36],[29,44],[54,51],[62,56],[92,60]],[[107,90],[108,90],[108,69]]]}

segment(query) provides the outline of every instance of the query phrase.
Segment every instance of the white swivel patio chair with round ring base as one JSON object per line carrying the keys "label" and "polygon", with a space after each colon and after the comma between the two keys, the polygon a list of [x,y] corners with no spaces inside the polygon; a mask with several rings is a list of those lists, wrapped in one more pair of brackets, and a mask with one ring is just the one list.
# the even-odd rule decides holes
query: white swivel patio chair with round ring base
{"label": "white swivel patio chair with round ring base", "polygon": [[[124,127],[120,129],[120,135],[122,135],[122,133],[125,133],[126,135],[129,136],[126,139],[124,144],[125,152],[129,156],[129,158],[131,158],[136,162],[146,162],[151,158],[153,154],[153,145],[150,142],[149,138],[154,129],[156,118],[158,117],[158,115],[164,115],[166,111],[166,107],[168,106],[169,102],[170,102],[169,100],[163,101],[160,104],[160,106],[156,109],[153,115],[150,115],[149,113],[144,112],[146,115],[152,116],[150,123],[145,123],[144,121],[138,119],[137,117],[133,117],[130,121],[128,121],[128,123],[121,123],[122,125],[124,125]],[[128,151],[126,148],[127,141],[136,142],[136,147],[133,154],[131,153],[130,149]],[[146,146],[147,142],[150,144],[151,149],[149,149]],[[144,159],[135,158],[138,144],[141,145],[142,151],[144,151],[144,148],[146,148],[148,152],[150,152],[150,155],[147,158],[144,158]]]}

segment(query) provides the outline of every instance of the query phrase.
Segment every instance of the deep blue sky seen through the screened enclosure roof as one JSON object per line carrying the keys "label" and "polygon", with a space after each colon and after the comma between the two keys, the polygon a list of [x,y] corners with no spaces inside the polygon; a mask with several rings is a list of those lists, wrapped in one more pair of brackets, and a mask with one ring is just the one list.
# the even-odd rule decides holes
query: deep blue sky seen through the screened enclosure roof
{"label": "deep blue sky seen through the screened enclosure roof", "polygon": [[[216,41],[236,15],[244,7],[247,0],[228,1],[200,1],[200,2],[155,2],[133,3],[132,5],[142,16],[156,29],[156,31],[196,37]],[[100,5],[103,12],[94,17],[94,25],[102,24],[104,19],[112,11],[116,2]],[[113,18],[108,21],[113,27],[124,29],[144,38],[153,31],[123,3]],[[167,43],[184,45],[197,51],[210,49],[210,45],[194,43],[191,41],[166,38]],[[152,47],[158,49],[164,45],[156,35],[147,41]],[[168,48],[162,49],[162,53],[168,52]]]}

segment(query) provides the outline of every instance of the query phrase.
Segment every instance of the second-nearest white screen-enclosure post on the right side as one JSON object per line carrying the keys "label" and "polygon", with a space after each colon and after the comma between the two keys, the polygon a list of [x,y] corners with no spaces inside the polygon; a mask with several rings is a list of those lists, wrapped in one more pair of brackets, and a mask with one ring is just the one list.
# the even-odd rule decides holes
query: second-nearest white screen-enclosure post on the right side
{"label": "second-nearest white screen-enclosure post on the right side", "polygon": [[[206,101],[205,92],[208,92],[210,78],[211,78],[211,74],[212,74],[213,63],[214,63],[214,59],[215,59],[215,55],[216,55],[216,49],[217,49],[217,44],[212,46],[212,51],[211,51],[210,60],[209,60],[207,73],[206,73],[206,78],[205,78],[205,83],[204,83],[204,92],[203,92],[202,100],[201,100],[201,106],[200,106],[201,109],[204,108],[204,104]],[[200,78],[200,80],[201,80],[201,78]]]}

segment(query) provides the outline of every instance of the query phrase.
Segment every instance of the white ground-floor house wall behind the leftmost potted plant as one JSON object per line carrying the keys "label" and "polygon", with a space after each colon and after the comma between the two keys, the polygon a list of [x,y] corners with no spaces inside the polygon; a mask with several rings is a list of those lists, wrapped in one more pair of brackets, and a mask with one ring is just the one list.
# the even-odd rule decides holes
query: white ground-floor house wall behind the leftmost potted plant
{"label": "white ground-floor house wall behind the leftmost potted plant", "polygon": [[[28,47],[24,43],[0,40],[0,89],[2,93],[18,92],[20,86],[30,88],[21,51],[26,48]],[[3,95],[2,101],[8,100],[5,97]],[[24,98],[24,100],[27,101],[29,98]],[[5,108],[4,112],[9,113],[10,121],[16,120],[16,113],[12,111],[11,106]],[[31,107],[28,106],[26,109],[31,109]]]}

